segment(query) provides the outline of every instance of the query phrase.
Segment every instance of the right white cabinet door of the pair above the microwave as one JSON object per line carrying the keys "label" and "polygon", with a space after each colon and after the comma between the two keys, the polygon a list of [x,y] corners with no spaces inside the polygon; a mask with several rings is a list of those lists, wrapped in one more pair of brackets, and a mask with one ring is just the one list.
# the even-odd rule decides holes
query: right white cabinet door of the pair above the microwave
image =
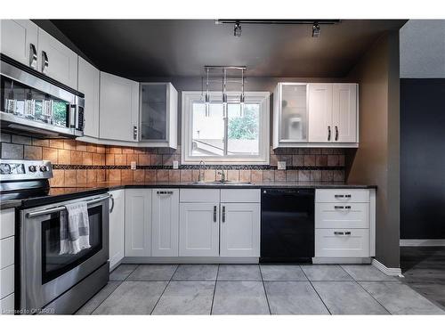
{"label": "right white cabinet door of the pair above the microwave", "polygon": [[77,53],[38,29],[37,70],[48,77],[77,89]]}

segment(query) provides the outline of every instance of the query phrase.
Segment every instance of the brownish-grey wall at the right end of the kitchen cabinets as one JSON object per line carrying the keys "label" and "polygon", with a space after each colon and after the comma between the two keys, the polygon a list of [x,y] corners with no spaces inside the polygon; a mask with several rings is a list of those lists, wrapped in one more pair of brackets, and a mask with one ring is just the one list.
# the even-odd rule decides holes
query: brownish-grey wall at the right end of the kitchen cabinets
{"label": "brownish-grey wall at the right end of the kitchen cabinets", "polygon": [[379,38],[349,78],[360,85],[360,149],[350,151],[346,180],[376,184],[376,259],[400,265],[399,33]]}

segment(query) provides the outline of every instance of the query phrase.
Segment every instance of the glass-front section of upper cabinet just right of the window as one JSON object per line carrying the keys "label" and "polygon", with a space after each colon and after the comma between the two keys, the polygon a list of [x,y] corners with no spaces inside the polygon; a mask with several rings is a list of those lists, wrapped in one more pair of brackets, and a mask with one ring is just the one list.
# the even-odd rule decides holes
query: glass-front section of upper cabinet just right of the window
{"label": "glass-front section of upper cabinet just right of the window", "polygon": [[307,142],[307,84],[279,83],[274,94],[273,148]]}

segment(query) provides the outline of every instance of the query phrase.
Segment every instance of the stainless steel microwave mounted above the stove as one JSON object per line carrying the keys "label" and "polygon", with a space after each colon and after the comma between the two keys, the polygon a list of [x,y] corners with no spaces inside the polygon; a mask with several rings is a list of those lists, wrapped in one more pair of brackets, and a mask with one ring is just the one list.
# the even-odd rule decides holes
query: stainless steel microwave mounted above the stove
{"label": "stainless steel microwave mounted above the stove", "polygon": [[84,134],[84,94],[4,54],[0,74],[2,131],[54,138]]}

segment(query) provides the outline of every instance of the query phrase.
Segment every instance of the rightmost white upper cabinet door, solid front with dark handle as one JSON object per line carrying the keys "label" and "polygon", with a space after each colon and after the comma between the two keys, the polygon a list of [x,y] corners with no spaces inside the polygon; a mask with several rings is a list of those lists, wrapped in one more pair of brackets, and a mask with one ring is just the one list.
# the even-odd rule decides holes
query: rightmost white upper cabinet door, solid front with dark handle
{"label": "rightmost white upper cabinet door, solid front with dark handle", "polygon": [[334,84],[332,90],[333,140],[336,143],[356,143],[357,84]]}

